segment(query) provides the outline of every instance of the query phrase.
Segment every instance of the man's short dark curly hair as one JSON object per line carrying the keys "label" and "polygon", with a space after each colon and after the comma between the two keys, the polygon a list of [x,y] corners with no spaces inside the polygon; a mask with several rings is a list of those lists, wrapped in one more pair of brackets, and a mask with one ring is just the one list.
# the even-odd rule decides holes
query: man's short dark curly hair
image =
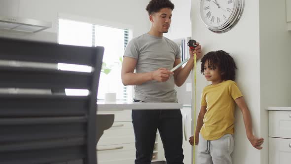
{"label": "man's short dark curly hair", "polygon": [[146,6],[146,11],[148,15],[158,12],[162,8],[171,8],[173,11],[174,4],[170,0],[150,0]]}

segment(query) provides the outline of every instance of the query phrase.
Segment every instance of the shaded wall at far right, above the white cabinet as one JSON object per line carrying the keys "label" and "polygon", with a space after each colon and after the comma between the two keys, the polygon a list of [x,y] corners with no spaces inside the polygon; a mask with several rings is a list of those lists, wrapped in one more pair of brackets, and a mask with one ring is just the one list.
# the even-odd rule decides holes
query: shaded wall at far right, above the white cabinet
{"label": "shaded wall at far right, above the white cabinet", "polygon": [[[270,10],[270,8],[272,8]],[[260,0],[260,110],[261,133],[268,137],[268,106],[291,106],[291,32],[286,25],[286,0]],[[267,164],[267,149],[261,164]]]}

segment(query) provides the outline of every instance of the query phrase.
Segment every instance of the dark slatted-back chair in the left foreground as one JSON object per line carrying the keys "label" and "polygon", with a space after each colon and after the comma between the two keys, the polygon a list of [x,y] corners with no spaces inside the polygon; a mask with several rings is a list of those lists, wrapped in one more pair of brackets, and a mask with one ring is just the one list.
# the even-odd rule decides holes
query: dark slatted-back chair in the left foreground
{"label": "dark slatted-back chair in the left foreground", "polygon": [[[1,92],[0,164],[97,163],[95,119],[103,52],[103,47],[0,39],[0,60],[10,61],[0,66],[0,89],[89,90],[88,96]],[[21,67],[13,61],[87,65],[93,71]]]}

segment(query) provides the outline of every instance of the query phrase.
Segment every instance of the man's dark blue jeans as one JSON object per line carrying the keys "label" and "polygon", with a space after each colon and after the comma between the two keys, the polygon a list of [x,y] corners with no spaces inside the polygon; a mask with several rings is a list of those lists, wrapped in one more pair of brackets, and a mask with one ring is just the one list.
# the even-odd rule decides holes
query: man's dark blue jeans
{"label": "man's dark blue jeans", "polygon": [[136,140],[135,164],[151,163],[157,129],[163,142],[167,164],[183,164],[180,109],[132,110],[132,123]]}

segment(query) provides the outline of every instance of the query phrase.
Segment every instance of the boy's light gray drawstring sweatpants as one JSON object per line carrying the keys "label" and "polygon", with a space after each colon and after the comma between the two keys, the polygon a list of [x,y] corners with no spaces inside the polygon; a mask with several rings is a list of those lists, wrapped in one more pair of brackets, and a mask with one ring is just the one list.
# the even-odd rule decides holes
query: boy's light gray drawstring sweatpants
{"label": "boy's light gray drawstring sweatpants", "polygon": [[199,134],[197,164],[231,164],[230,154],[234,141],[231,134],[225,134],[217,140],[205,140]]}

